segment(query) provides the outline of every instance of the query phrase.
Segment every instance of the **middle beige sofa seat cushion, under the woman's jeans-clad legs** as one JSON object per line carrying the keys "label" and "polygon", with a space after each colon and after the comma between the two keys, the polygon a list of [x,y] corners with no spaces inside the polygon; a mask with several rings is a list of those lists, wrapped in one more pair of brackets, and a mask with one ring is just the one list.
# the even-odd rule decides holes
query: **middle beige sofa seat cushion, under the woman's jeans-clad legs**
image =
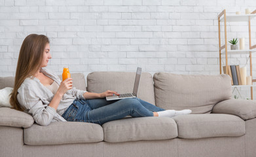
{"label": "middle beige sofa seat cushion, under the woman's jeans-clad legs", "polygon": [[124,118],[103,124],[104,141],[119,143],[177,137],[177,124],[168,117]]}

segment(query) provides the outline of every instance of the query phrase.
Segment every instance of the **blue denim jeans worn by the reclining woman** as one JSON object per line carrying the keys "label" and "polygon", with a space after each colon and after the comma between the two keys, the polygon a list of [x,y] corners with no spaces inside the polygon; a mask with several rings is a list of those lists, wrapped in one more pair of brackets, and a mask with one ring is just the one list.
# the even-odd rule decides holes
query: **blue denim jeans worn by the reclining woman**
{"label": "blue denim jeans worn by the reclining woman", "polygon": [[103,99],[75,99],[62,116],[71,122],[104,124],[125,116],[153,116],[153,112],[164,111],[137,97],[106,101]]}

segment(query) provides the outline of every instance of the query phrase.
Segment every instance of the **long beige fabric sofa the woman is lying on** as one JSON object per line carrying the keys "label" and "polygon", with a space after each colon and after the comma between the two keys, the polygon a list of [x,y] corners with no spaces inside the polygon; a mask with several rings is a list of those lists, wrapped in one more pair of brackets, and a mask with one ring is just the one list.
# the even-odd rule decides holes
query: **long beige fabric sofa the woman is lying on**
{"label": "long beige fabric sofa the woman is lying on", "polygon": [[[88,92],[132,92],[135,73],[72,74]],[[13,77],[0,78],[0,89]],[[256,103],[231,99],[227,75],[141,75],[138,97],[164,109],[191,109],[174,118],[124,118],[102,126],[34,123],[29,114],[0,107],[0,156],[255,156]]]}

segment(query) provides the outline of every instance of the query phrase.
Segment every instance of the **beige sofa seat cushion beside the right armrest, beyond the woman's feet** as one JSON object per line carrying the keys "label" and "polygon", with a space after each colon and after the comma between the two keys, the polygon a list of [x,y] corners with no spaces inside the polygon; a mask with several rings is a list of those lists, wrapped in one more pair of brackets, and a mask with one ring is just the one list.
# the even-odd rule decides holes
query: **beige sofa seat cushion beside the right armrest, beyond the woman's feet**
{"label": "beige sofa seat cushion beside the right armrest, beyond the woman's feet", "polygon": [[188,114],[175,116],[178,137],[200,139],[206,137],[242,136],[246,134],[246,123],[230,114]]}

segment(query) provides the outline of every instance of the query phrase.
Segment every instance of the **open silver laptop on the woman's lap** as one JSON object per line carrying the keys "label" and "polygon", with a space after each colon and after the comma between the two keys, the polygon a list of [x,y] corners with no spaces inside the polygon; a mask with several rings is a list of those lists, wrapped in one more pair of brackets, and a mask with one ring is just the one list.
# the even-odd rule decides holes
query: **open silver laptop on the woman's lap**
{"label": "open silver laptop on the woman's lap", "polygon": [[107,101],[136,97],[137,89],[139,88],[140,77],[141,77],[141,67],[137,67],[137,72],[136,72],[136,77],[135,77],[135,82],[134,82],[134,92],[132,92],[132,94],[120,94],[119,96],[108,96],[108,97],[106,97]]}

